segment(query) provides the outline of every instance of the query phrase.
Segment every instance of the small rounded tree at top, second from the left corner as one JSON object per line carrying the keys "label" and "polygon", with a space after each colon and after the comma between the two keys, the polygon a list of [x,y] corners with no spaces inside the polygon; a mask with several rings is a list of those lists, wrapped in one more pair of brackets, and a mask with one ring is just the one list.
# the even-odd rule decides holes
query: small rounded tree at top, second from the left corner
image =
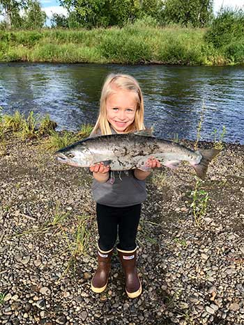
{"label": "small rounded tree at top, second from the left corner", "polygon": [[44,26],[47,15],[41,10],[38,0],[28,0],[23,18],[26,29],[40,29]]}

